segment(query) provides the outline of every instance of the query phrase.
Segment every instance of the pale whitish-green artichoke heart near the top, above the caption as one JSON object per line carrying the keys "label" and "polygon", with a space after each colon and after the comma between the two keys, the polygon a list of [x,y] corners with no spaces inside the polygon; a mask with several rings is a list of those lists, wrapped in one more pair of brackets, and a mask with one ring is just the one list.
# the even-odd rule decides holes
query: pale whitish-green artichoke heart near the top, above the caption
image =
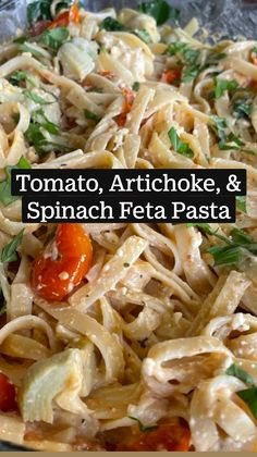
{"label": "pale whitish-green artichoke heart near the top, above the caption", "polygon": [[64,42],[58,51],[66,77],[83,81],[95,69],[98,45],[82,37]]}

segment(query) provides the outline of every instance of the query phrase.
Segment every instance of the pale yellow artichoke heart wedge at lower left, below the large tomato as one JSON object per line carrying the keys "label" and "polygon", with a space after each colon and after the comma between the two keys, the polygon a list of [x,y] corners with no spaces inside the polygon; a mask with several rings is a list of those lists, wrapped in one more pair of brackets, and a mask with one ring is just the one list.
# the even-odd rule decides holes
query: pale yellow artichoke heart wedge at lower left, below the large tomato
{"label": "pale yellow artichoke heart wedge at lower left, below the large tomato", "polygon": [[[82,381],[83,361],[79,349],[66,349],[34,363],[27,370],[19,394],[23,420],[52,423],[53,399],[63,409],[87,416],[87,407],[78,397]],[[64,398],[69,399],[66,405]]]}

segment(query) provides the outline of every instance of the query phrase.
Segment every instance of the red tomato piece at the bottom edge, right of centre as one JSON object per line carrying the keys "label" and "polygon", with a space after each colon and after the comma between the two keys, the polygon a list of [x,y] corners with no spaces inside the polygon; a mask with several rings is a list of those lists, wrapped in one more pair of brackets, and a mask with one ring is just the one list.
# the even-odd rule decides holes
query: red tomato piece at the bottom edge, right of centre
{"label": "red tomato piece at the bottom edge, right of centre", "polygon": [[138,432],[115,450],[188,450],[191,432],[185,422],[166,422],[149,432]]}

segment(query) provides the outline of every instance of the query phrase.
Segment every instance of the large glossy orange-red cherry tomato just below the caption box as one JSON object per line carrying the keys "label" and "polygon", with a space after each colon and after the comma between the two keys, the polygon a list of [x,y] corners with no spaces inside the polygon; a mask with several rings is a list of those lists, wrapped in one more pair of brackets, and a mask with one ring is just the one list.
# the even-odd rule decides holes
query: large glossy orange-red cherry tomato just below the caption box
{"label": "large glossy orange-red cherry tomato just below the caption box", "polygon": [[91,242],[79,224],[59,224],[56,238],[35,259],[32,288],[46,300],[61,301],[88,272]]}

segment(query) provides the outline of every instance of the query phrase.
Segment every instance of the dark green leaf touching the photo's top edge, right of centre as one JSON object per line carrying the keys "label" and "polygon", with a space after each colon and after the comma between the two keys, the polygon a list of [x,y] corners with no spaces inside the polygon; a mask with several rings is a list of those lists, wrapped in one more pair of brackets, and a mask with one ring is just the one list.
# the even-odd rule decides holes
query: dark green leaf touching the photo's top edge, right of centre
{"label": "dark green leaf touching the photo's top edge, right of centre", "polygon": [[138,5],[138,10],[144,14],[155,17],[157,25],[162,25],[168,20],[176,22],[180,17],[180,10],[170,7],[164,0],[144,1]]}

